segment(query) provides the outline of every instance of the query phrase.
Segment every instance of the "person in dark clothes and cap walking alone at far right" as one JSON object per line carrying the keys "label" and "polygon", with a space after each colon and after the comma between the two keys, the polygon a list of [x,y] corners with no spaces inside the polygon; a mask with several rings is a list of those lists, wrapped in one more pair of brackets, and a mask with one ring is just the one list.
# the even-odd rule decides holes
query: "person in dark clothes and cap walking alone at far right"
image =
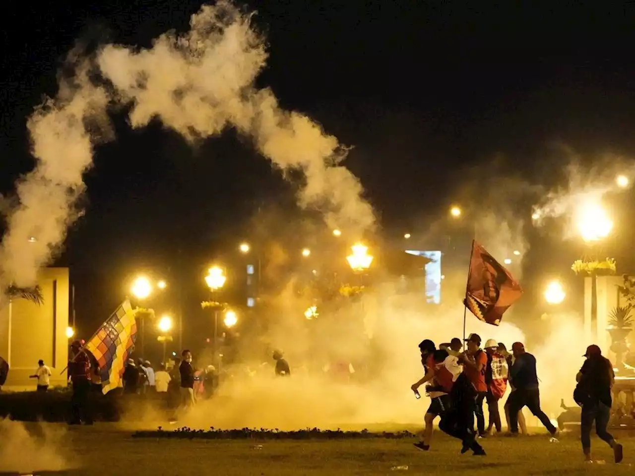
{"label": "person in dark clothes and cap walking alone at far right", "polygon": [[598,437],[613,448],[615,463],[620,463],[623,458],[622,445],[606,431],[613,403],[611,397],[611,388],[615,380],[613,365],[602,355],[597,345],[589,345],[583,357],[587,360],[575,378],[578,385],[573,392],[573,399],[582,407],[580,440],[582,440],[584,459],[591,463],[591,428],[595,421]]}

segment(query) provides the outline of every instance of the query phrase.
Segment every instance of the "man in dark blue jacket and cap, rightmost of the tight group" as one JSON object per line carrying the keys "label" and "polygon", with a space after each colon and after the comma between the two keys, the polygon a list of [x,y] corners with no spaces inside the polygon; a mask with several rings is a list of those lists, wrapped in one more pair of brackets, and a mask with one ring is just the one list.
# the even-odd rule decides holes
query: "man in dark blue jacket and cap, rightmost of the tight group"
{"label": "man in dark blue jacket and cap, rightmost of the tight group", "polygon": [[544,411],[540,409],[540,390],[538,390],[538,374],[536,373],[536,358],[526,352],[525,345],[514,342],[512,345],[514,364],[509,369],[512,382],[516,390],[509,395],[509,430],[512,435],[518,435],[518,411],[527,407],[534,416],[545,425],[545,428],[556,437],[558,430],[552,425]]}

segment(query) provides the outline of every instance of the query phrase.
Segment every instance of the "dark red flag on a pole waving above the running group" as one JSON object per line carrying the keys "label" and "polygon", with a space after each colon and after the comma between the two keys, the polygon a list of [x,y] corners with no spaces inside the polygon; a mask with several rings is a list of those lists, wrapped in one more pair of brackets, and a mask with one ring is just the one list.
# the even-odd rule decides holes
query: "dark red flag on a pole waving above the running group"
{"label": "dark red flag on a pole waving above the running group", "polygon": [[465,306],[479,320],[498,326],[503,314],[523,295],[518,281],[483,246],[472,241]]}

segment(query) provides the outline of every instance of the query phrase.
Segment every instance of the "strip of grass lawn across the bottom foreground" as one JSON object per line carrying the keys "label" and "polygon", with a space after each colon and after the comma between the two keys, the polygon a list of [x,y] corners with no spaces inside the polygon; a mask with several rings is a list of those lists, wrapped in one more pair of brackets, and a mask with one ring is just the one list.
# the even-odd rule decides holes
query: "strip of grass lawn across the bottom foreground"
{"label": "strip of grass lawn across the bottom foreground", "polygon": [[[459,454],[460,443],[435,432],[432,449],[421,452],[411,440],[180,440],[135,439],[111,425],[41,428],[10,423],[0,453],[0,474],[33,472],[67,475],[632,475],[635,437],[623,435],[625,458],[612,463],[608,446],[593,439],[594,458],[606,464],[582,463],[577,434],[551,444],[546,435],[483,440],[488,456]],[[19,430],[17,430],[19,425]],[[9,430],[7,430],[9,428]],[[10,433],[8,433],[10,432]],[[36,435],[36,436],[33,436]],[[43,442],[46,441],[44,446]],[[262,447],[256,447],[262,445]],[[632,451],[632,453],[631,453]],[[41,467],[38,467],[40,465]],[[408,470],[392,470],[408,466]],[[48,471],[46,471],[48,470]]]}

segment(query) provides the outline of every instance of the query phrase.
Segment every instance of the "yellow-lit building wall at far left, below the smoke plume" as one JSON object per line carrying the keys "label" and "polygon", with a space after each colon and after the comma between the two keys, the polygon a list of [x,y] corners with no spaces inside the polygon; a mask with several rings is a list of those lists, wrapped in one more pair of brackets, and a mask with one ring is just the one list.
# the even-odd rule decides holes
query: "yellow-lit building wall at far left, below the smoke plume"
{"label": "yellow-lit building wall at far left, below the smoke plume", "polygon": [[66,373],[60,372],[68,362],[69,270],[43,268],[38,284],[42,305],[16,299],[0,309],[0,355],[10,366],[4,390],[34,390],[36,380],[29,375],[39,359],[51,367],[51,386],[66,385]]}

